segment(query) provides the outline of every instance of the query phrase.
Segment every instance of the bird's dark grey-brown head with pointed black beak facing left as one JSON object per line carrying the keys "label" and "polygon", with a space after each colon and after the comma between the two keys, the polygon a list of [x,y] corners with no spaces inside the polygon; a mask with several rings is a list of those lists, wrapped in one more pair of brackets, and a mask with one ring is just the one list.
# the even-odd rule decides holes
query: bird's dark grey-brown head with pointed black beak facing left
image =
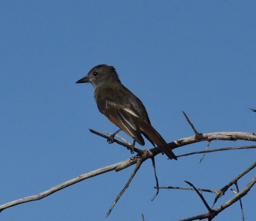
{"label": "bird's dark grey-brown head with pointed black beak facing left", "polygon": [[97,65],[85,77],[76,81],[76,83],[91,83],[95,89],[114,82],[120,82],[119,76],[114,67],[108,65]]}

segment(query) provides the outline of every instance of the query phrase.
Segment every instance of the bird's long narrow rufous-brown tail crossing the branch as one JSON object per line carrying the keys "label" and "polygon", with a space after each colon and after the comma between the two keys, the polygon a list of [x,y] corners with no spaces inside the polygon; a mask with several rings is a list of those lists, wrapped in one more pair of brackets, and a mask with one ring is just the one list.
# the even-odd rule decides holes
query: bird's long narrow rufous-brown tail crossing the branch
{"label": "bird's long narrow rufous-brown tail crossing the branch", "polygon": [[146,121],[141,120],[139,122],[140,129],[148,136],[150,140],[152,140],[158,148],[166,154],[170,159],[177,160],[175,154],[168,148],[167,143],[165,142],[164,138],[152,127],[152,125],[148,124]]}

